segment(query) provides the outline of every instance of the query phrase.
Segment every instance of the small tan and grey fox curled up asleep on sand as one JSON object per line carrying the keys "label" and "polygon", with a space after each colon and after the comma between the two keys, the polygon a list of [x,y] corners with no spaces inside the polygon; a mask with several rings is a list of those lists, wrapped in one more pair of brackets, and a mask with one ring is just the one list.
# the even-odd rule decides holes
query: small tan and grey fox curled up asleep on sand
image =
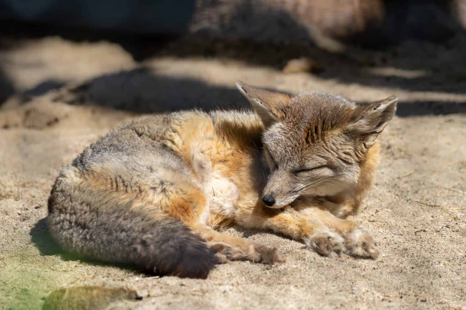
{"label": "small tan and grey fox curled up asleep on sand", "polygon": [[226,236],[236,223],[303,241],[324,256],[375,258],[354,214],[397,98],[358,104],[237,82],[253,111],[148,116],[86,148],[57,177],[48,228],[63,249],[159,275],[205,278],[216,263],[284,261]]}

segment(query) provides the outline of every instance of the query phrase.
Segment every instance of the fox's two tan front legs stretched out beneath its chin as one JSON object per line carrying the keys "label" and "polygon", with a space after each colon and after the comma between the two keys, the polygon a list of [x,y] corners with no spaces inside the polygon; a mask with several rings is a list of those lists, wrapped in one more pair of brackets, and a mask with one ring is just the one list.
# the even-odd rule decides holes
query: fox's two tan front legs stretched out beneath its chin
{"label": "fox's two tan front legs stretched out beneath its chin", "polygon": [[296,210],[287,206],[277,210],[260,204],[255,206],[251,214],[241,215],[237,221],[248,227],[271,229],[295,240],[302,240],[309,248],[324,256],[338,256],[342,251],[355,256],[378,255],[377,243],[354,222],[339,219],[317,208]]}

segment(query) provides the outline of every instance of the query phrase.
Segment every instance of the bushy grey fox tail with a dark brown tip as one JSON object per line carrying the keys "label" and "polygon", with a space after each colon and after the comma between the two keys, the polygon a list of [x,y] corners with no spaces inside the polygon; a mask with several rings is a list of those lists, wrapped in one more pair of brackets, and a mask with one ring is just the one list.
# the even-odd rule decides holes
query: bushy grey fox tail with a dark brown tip
{"label": "bushy grey fox tail with a dark brown tip", "polygon": [[130,209],[128,202],[100,199],[103,206],[96,207],[73,196],[67,183],[59,177],[48,199],[48,230],[63,249],[157,275],[206,278],[217,263],[215,252],[183,222]]}

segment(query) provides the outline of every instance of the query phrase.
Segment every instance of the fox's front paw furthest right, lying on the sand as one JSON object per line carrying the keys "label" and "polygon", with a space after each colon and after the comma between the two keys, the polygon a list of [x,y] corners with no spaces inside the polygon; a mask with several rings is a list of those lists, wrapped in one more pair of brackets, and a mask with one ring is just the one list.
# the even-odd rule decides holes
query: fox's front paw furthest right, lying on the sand
{"label": "fox's front paw furthest right, lying on the sand", "polygon": [[347,253],[349,255],[377,258],[377,242],[366,230],[355,227],[345,234],[345,240]]}

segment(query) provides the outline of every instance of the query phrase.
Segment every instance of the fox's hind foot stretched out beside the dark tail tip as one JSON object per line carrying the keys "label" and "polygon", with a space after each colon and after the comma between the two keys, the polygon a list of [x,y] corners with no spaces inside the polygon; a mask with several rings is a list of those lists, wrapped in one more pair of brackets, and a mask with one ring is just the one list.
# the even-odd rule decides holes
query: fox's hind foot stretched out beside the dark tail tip
{"label": "fox's hind foot stretched out beside the dark tail tip", "polygon": [[284,262],[283,257],[274,247],[227,236],[201,223],[192,225],[192,229],[217,251],[220,262],[227,263],[235,260],[265,264]]}

